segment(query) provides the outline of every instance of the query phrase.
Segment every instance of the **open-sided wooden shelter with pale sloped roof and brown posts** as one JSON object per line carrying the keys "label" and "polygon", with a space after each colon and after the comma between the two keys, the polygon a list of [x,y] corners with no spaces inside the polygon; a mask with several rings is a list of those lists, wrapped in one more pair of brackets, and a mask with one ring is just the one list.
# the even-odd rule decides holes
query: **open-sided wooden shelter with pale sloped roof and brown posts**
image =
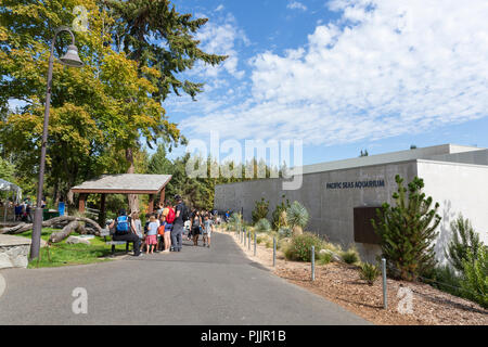
{"label": "open-sided wooden shelter with pale sloped roof and brown posts", "polygon": [[106,194],[149,194],[149,213],[151,214],[154,211],[156,195],[159,195],[159,201],[165,201],[166,185],[170,180],[171,175],[104,175],[99,179],[72,188],[72,192],[79,194],[78,209],[80,213],[85,213],[88,194],[102,194],[100,220],[104,222]]}

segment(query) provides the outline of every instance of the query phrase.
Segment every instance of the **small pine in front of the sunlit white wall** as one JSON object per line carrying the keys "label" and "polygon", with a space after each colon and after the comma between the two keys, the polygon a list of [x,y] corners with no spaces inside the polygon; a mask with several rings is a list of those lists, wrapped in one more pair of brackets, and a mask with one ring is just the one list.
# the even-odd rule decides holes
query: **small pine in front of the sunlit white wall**
{"label": "small pine in front of the sunlit white wall", "polygon": [[451,230],[452,240],[448,244],[446,257],[454,269],[462,272],[463,264],[468,259],[467,254],[472,252],[474,258],[477,258],[483,242],[479,241],[479,234],[474,231],[470,220],[464,219],[462,215],[451,222]]}

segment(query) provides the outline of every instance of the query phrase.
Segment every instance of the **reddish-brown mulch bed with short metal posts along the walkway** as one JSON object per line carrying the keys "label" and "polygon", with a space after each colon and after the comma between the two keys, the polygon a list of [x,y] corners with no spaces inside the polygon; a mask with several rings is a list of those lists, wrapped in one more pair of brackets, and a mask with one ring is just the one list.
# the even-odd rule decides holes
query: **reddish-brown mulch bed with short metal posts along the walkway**
{"label": "reddish-brown mulch bed with short metal posts along the walkway", "polygon": [[[387,280],[388,309],[383,308],[382,279],[370,286],[360,280],[356,266],[331,262],[316,267],[316,281],[310,281],[310,264],[286,261],[278,253],[277,267],[272,268],[272,249],[235,243],[253,261],[267,267],[277,275],[316,293],[345,309],[381,325],[488,325],[488,310],[470,300],[438,291],[425,283]],[[411,291],[411,292],[410,292]],[[411,312],[406,293],[411,293]]]}

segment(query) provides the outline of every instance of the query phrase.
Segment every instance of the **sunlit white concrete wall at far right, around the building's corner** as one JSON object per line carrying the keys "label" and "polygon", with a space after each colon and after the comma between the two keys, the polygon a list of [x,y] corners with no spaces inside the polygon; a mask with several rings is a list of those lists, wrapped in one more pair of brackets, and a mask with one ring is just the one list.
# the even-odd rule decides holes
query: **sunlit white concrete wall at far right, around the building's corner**
{"label": "sunlit white concrete wall at far right, around the building's corner", "polygon": [[439,260],[446,261],[444,249],[451,239],[450,222],[460,213],[488,244],[488,166],[419,160],[418,170],[426,195],[440,204],[442,220],[435,248]]}

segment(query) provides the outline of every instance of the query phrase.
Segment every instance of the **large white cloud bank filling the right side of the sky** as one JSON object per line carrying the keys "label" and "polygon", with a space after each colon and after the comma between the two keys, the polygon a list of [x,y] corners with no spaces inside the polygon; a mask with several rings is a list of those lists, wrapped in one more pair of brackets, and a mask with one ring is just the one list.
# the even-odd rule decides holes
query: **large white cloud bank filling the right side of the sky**
{"label": "large white cloud bank filling the right side of the sky", "polygon": [[341,20],[318,26],[308,44],[252,60],[249,99],[183,129],[330,145],[488,116],[488,1],[329,4]]}

